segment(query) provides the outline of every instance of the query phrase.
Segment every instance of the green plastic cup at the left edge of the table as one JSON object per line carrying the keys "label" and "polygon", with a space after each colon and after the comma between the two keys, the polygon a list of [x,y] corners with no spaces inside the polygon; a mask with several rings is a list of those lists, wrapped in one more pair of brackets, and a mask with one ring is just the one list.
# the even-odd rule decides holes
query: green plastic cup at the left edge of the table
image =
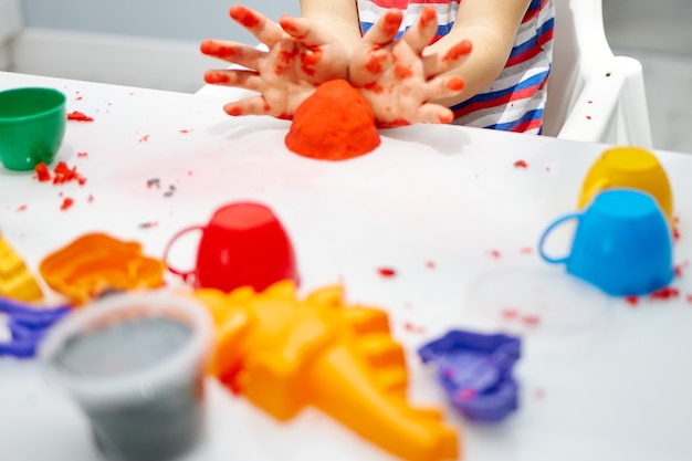
{"label": "green plastic cup at the left edge of the table", "polygon": [[50,164],[60,149],[66,123],[65,95],[57,90],[0,92],[0,163],[12,170]]}

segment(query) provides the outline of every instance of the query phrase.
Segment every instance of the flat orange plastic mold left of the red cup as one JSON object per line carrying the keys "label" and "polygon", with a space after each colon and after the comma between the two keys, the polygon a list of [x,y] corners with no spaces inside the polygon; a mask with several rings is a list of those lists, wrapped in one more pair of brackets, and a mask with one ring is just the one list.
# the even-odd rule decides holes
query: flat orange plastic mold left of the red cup
{"label": "flat orange plastic mold left of the red cup", "polygon": [[45,258],[39,271],[48,285],[83,304],[111,290],[155,289],[164,284],[162,261],[146,258],[141,245],[104,233],[88,233]]}

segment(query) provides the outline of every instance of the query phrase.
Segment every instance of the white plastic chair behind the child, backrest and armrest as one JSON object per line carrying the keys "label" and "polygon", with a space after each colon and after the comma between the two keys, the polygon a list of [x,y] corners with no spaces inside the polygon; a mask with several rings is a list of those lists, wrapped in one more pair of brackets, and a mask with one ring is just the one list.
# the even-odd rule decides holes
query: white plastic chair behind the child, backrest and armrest
{"label": "white plastic chair behind the child, backrest and armrest", "polygon": [[555,0],[555,10],[544,134],[651,148],[641,64],[614,55],[601,0]]}

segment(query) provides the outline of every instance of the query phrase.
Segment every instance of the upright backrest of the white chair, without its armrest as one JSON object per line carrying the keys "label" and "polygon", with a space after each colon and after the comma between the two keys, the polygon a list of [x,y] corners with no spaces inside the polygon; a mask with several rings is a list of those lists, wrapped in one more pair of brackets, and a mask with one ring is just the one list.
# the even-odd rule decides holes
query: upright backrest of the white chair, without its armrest
{"label": "upright backrest of the white chair, without its armrest", "polygon": [[555,0],[553,69],[543,133],[557,136],[586,77],[614,56],[606,39],[601,0]]}

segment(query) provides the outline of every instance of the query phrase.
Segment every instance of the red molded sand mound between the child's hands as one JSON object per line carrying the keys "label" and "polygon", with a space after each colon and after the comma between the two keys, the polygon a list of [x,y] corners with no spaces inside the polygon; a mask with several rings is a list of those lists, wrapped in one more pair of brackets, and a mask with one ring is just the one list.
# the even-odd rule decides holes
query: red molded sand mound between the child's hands
{"label": "red molded sand mound between the child's hands", "polygon": [[380,144],[367,101],[345,80],[323,83],[295,111],[286,147],[319,160],[346,160]]}

